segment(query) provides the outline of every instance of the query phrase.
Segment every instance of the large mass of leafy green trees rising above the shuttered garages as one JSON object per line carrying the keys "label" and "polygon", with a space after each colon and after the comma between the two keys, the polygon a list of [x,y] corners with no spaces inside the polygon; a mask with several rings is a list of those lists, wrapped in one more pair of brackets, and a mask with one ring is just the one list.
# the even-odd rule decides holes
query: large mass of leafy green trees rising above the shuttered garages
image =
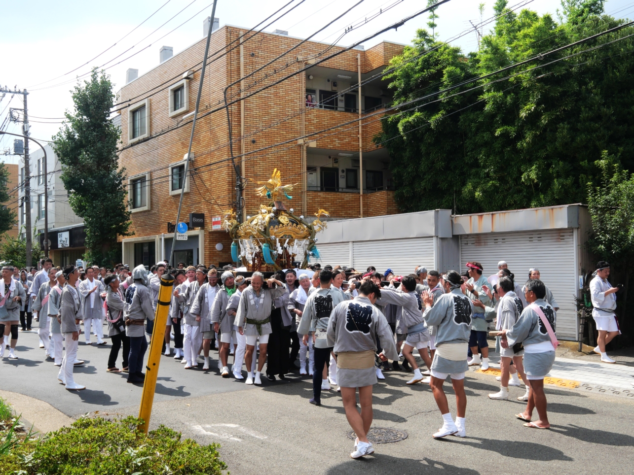
{"label": "large mass of leafy green trees rising above the shuttered garages", "polygon": [[[528,9],[514,13],[506,0],[497,0],[500,18],[477,53],[447,56],[448,47],[432,50],[439,44],[418,32],[415,45],[392,65],[420,59],[387,75],[395,105],[443,89],[456,71],[464,79],[494,74],[465,85],[480,86],[467,94],[453,96],[458,89],[441,101],[424,99],[383,120],[375,143],[392,157],[401,210],[443,206],[470,213],[585,203],[586,184],[598,182],[595,162],[604,150],[634,170],[634,41],[612,42],[634,29],[538,56],[623,23],[599,15],[602,4],[566,0],[557,21]],[[556,59],[561,61],[547,64]],[[431,80],[422,84],[425,78]]]}

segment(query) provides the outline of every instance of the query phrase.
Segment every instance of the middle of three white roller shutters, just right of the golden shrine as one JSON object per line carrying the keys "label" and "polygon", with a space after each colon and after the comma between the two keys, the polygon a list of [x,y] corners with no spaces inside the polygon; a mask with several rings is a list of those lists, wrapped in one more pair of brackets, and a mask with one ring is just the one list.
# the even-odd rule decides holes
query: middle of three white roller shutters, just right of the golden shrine
{"label": "middle of three white roller shutters, just right of the golden shrine", "polygon": [[353,243],[354,269],[373,265],[377,272],[392,269],[394,275],[413,274],[418,265],[434,269],[434,238],[380,239]]}

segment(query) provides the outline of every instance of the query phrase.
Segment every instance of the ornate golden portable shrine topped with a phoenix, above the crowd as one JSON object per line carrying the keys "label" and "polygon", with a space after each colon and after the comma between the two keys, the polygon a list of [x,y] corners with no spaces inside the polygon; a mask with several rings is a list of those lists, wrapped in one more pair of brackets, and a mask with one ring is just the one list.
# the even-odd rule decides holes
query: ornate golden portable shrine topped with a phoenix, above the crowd
{"label": "ornate golden portable shrine topped with a phoenix, above the crowd", "polygon": [[271,179],[256,183],[261,185],[256,189],[257,196],[270,200],[267,205],[260,205],[257,215],[240,224],[233,210],[224,212],[223,227],[233,239],[233,262],[242,263],[249,272],[275,272],[293,269],[298,264],[301,269],[306,269],[311,258],[320,257],[315,234],[327,226],[320,218],[330,215],[320,209],[314,213],[317,219],[307,222],[304,216],[295,216],[293,208],[287,209],[281,195],[292,200],[288,193],[292,193],[297,183],[282,185],[277,168]]}

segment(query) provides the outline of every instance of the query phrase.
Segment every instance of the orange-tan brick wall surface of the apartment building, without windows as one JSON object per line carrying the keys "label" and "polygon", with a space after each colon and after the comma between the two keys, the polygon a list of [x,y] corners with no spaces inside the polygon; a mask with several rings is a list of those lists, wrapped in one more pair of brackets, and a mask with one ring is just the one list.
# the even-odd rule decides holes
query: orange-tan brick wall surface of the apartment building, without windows
{"label": "orange-tan brick wall surface of the apartment building, without windows", "polygon": [[[209,51],[228,51],[231,41],[245,32],[235,27],[223,27],[214,32],[211,37]],[[275,56],[298,44],[300,40],[284,35],[261,34],[243,44],[243,63],[245,73],[250,73],[273,60]],[[169,95],[168,85],[177,82],[186,70],[196,70],[190,81],[190,111],[194,110],[195,99],[200,80],[200,60],[204,53],[205,39],[201,39],[185,51],[176,54],[161,65],[145,73],[143,76],[125,85],[120,90],[118,108],[122,114],[122,143],[119,153],[120,165],[126,169],[127,176],[151,172],[150,210],[137,212],[132,215],[130,231],[134,236],[153,236],[167,232],[167,222],[175,222],[178,210],[179,196],[169,195],[169,165],[183,159],[187,151],[191,133],[191,118],[171,118],[168,114]],[[262,72],[245,79],[247,93],[254,91],[264,84],[281,79],[290,72],[297,71],[301,64],[297,57],[304,58],[311,54],[318,54],[326,45],[307,42],[287,54],[281,60],[267,66]],[[331,49],[328,54],[336,51]],[[357,54],[361,54],[363,72],[369,72],[387,65],[394,54],[399,54],[402,46],[381,43],[368,51],[352,50],[342,53],[321,66],[338,68],[356,72]],[[224,87],[240,79],[240,49],[236,48],[226,56],[211,55],[210,63],[205,72],[204,89],[200,103],[200,113],[197,120],[196,132],[192,145],[195,159],[191,165],[190,192],[184,194],[181,220],[188,219],[188,213],[205,213],[205,264],[231,260],[230,240],[225,232],[211,231],[211,218],[232,208],[235,196],[235,172],[230,160],[228,144],[229,133],[226,111],[220,110],[209,115],[208,111],[218,108],[223,103]],[[287,65],[288,63],[288,65]],[[268,75],[268,76],[267,76]],[[265,77],[266,76],[266,77]],[[254,84],[254,82],[256,84]],[[147,91],[150,91],[149,94]],[[139,143],[129,144],[127,107],[133,105],[146,96],[150,96],[150,138]],[[240,97],[240,83],[231,86],[227,91],[231,98]],[[239,157],[242,145],[240,137],[240,103],[230,106],[232,137],[236,165],[240,167]],[[253,181],[266,181],[271,176],[273,168],[281,170],[285,183],[301,183],[301,148],[297,145],[297,137],[301,136],[301,116],[298,111],[304,110],[304,91],[300,75],[270,87],[255,96],[245,99],[245,176],[249,182],[245,186],[245,209],[247,214],[257,213],[261,200],[255,195],[257,185]],[[204,117],[200,117],[203,115]],[[290,118],[281,124],[275,124],[283,118]],[[326,129],[335,125],[354,120],[358,115],[340,111],[321,109],[307,110],[304,113],[306,133]],[[184,125],[183,125],[184,124]],[[363,144],[372,144],[372,137],[380,130],[380,124],[368,125],[363,130]],[[182,127],[178,127],[183,125]],[[271,125],[266,130],[257,132],[262,127]],[[178,127],[174,129],[175,127]],[[378,128],[377,128],[378,127]],[[351,130],[344,130],[349,129]],[[174,129],[174,130],[170,130]],[[336,134],[332,134],[333,132]],[[319,148],[338,149],[342,151],[358,151],[359,139],[356,124],[338,127],[330,132],[321,132],[311,140],[317,140]],[[264,146],[292,141],[276,148],[256,152]],[[389,198],[391,192],[380,192],[387,198],[366,198],[365,215],[378,215],[396,212],[395,206]],[[379,193],[375,193],[378,195]],[[289,208],[301,209],[301,187],[298,186],[292,194],[293,200],[287,203]],[[368,195],[372,196],[372,195]],[[390,201],[391,200],[391,201]],[[347,193],[307,192],[307,213],[312,215],[318,208],[330,211],[333,216],[358,217],[359,196]],[[375,209],[376,208],[376,209]],[[216,244],[223,243],[224,249],[216,251]]]}

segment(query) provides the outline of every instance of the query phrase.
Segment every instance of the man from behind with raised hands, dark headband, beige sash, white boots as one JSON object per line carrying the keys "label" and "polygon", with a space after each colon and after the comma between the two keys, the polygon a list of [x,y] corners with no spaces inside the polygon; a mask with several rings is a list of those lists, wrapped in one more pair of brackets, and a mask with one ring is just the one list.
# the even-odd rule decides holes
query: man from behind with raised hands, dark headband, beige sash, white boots
{"label": "man from behind with raised hands, dark headband, beige sash, white boots", "polygon": [[[467,410],[464,379],[465,371],[469,369],[467,345],[471,333],[473,304],[460,290],[462,278],[458,272],[450,270],[444,275],[443,280],[446,293],[435,300],[428,292],[422,294],[425,304],[423,318],[427,326],[436,326],[436,353],[430,369],[430,386],[438,409],[443,415],[443,427],[434,433],[433,437],[441,438],[453,434],[464,437]],[[447,396],[443,390],[444,380],[450,375],[458,412],[455,422],[451,419]]]}

